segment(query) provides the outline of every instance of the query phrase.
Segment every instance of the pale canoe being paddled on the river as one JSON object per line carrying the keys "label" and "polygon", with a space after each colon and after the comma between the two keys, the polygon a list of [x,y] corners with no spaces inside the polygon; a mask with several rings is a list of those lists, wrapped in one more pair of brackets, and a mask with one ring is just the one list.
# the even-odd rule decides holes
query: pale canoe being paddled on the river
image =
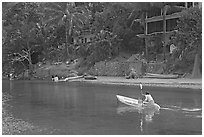
{"label": "pale canoe being paddled on the river", "polygon": [[125,96],[121,96],[121,95],[116,95],[117,99],[129,106],[134,106],[134,107],[144,107],[144,108],[155,108],[157,110],[160,109],[160,106],[158,104],[154,104],[153,106],[147,106],[147,102],[143,101],[143,104],[139,103],[139,100],[137,99],[133,99],[133,98],[129,98],[129,97],[125,97]]}

